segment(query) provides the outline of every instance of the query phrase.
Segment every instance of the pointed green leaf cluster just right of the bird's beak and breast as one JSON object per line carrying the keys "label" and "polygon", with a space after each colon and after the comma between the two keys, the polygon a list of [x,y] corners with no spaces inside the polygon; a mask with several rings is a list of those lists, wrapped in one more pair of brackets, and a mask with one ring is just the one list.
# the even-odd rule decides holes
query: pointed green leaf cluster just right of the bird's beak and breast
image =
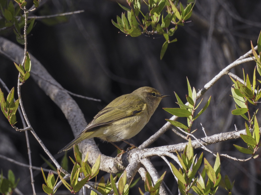
{"label": "pointed green leaf cluster just right of the bird's beak and breast", "polygon": [[192,123],[207,109],[207,107],[209,106],[209,103],[210,103],[211,96],[209,97],[209,100],[206,102],[205,106],[198,112],[198,114],[195,115],[195,110],[198,108],[198,106],[200,105],[200,103],[202,102],[203,99],[201,99],[201,101],[196,105],[197,92],[194,87],[193,87],[193,90],[191,89],[188,79],[187,79],[187,83],[188,83],[188,95],[186,95],[186,99],[189,103],[188,106],[185,105],[181,101],[179,96],[175,93],[177,101],[178,101],[176,103],[180,106],[180,108],[163,108],[163,109],[175,116],[187,117],[188,126],[186,126],[180,122],[177,122],[177,121],[173,121],[173,120],[169,120],[169,119],[166,119],[166,120],[169,121],[172,125],[184,129],[187,133],[193,133],[197,129],[191,132]]}

